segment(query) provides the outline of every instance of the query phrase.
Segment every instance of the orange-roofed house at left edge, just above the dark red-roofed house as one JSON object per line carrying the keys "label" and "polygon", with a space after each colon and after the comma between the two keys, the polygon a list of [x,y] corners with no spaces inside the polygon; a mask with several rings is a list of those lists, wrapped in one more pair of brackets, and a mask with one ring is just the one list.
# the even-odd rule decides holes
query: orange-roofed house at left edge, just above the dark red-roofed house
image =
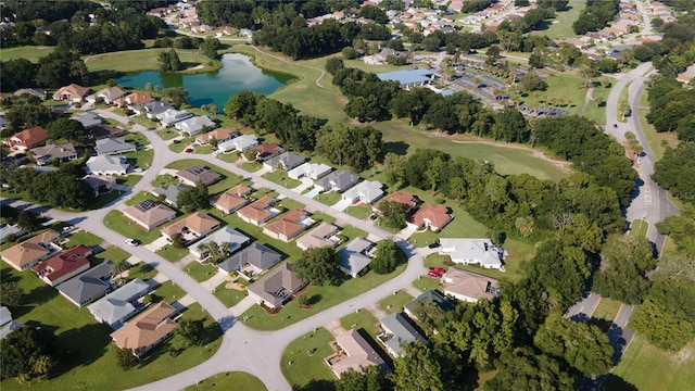
{"label": "orange-roofed house at left edge, just above the dark red-roofed house", "polygon": [[56,251],[62,250],[55,244],[60,237],[60,234],[49,229],[0,252],[0,257],[15,269],[20,272],[26,270],[53,255]]}

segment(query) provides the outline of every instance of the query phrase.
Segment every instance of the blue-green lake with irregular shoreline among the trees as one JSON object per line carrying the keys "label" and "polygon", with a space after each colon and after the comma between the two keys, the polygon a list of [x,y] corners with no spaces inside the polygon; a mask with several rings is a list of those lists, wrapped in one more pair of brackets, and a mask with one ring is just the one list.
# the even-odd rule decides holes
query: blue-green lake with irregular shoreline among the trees
{"label": "blue-green lake with irregular shoreline among the trees", "polygon": [[188,90],[190,104],[198,108],[215,104],[222,113],[229,97],[237,92],[250,90],[269,94],[292,78],[292,75],[261,70],[245,55],[228,53],[222,56],[222,68],[217,72],[182,75],[142,71],[121,77],[117,81],[122,86],[136,88],[144,88],[148,83],[161,89],[184,87]]}

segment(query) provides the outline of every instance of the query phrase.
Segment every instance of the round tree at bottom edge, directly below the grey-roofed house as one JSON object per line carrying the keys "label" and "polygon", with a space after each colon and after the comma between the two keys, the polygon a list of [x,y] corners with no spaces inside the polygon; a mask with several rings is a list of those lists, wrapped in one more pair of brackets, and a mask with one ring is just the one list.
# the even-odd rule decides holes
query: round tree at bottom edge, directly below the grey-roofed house
{"label": "round tree at bottom edge, directly below the grey-roofed house", "polygon": [[396,358],[389,378],[399,391],[443,391],[441,366],[430,348],[421,342],[404,343],[405,356]]}

